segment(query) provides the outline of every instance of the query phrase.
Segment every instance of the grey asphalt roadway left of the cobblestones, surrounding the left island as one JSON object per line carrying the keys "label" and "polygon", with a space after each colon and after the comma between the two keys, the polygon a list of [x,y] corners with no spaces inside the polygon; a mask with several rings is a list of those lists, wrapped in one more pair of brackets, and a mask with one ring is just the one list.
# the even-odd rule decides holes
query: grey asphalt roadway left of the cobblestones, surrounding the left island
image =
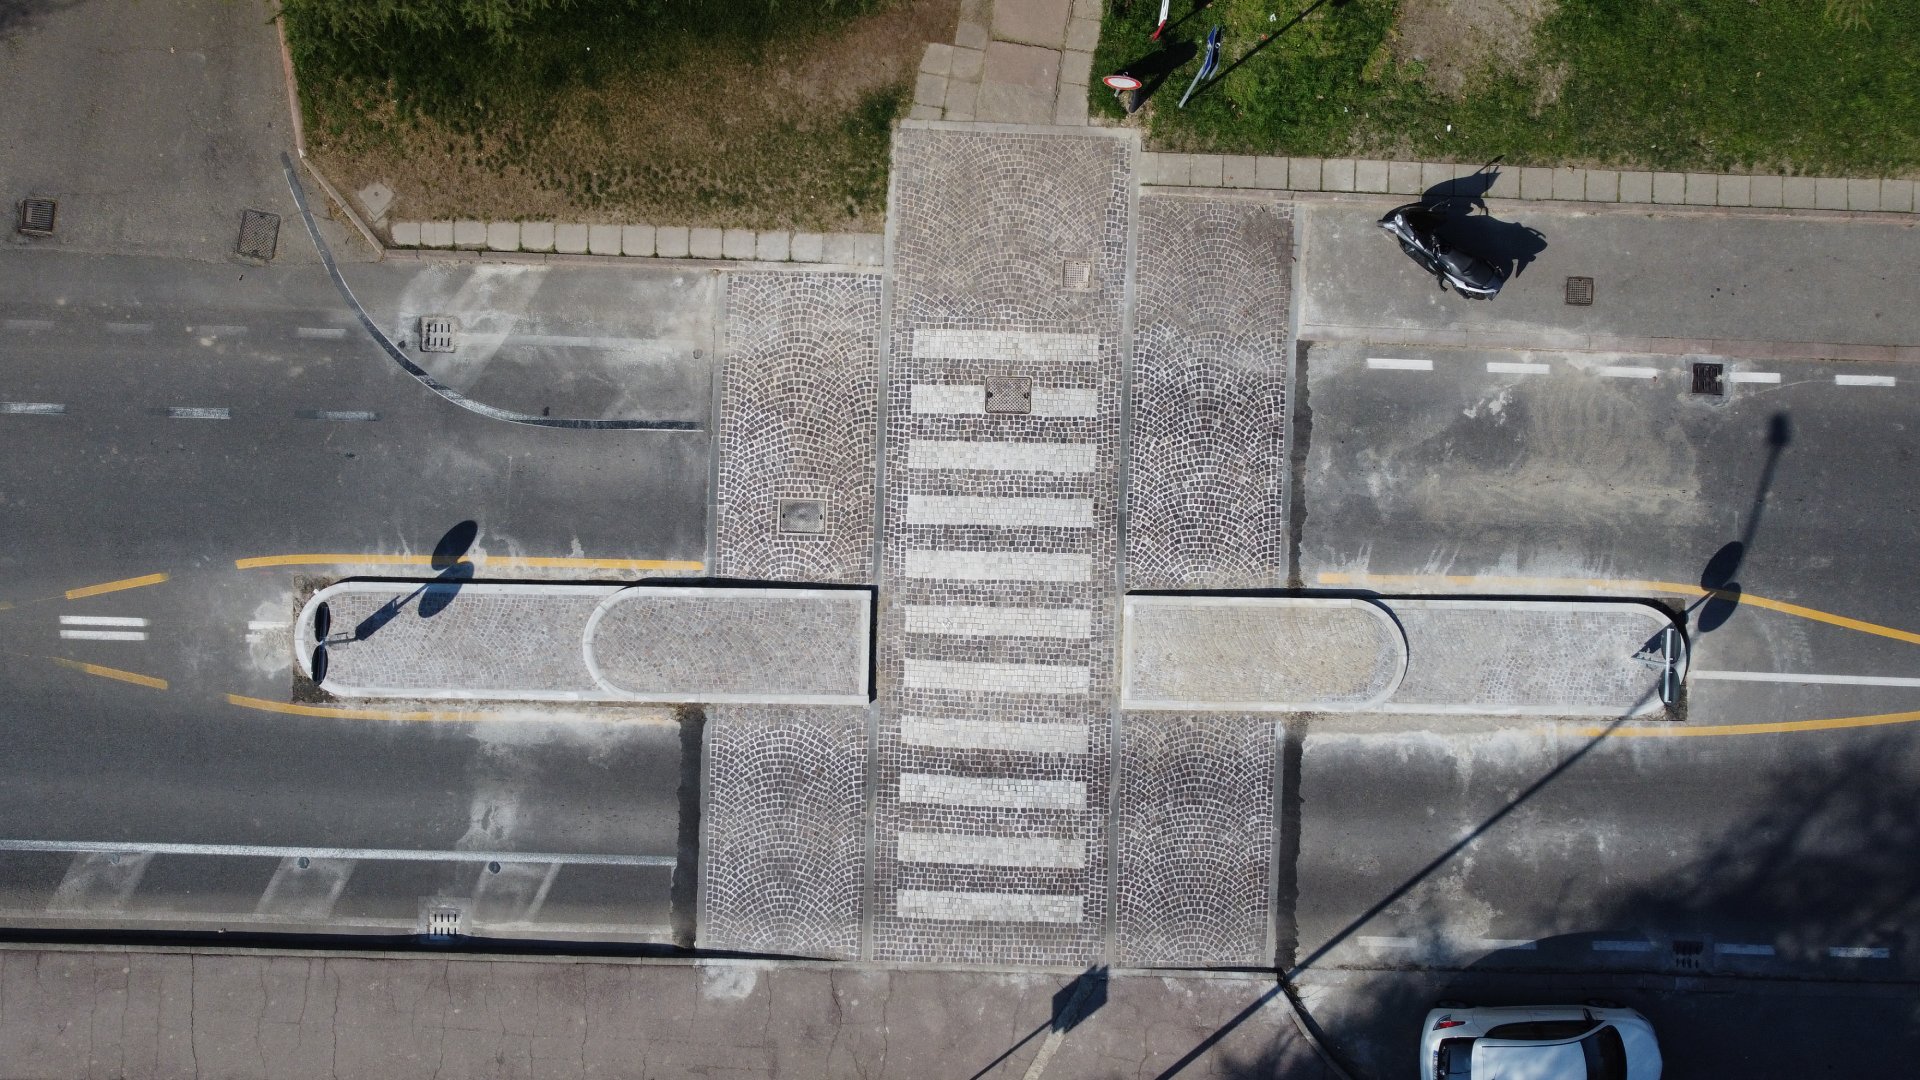
{"label": "grey asphalt roadway left of the cobblestones, surrounding the left island", "polygon": [[[353,273],[361,292],[392,298],[419,267]],[[662,350],[653,365],[659,386],[703,390],[655,405],[701,430],[532,429],[401,373],[317,267],[6,252],[0,275],[17,284],[0,304],[0,402],[12,404],[0,405],[0,454],[17,463],[0,479],[0,601],[12,605],[0,611],[0,842],[213,846],[119,869],[0,844],[0,903],[23,913],[10,922],[52,905],[83,924],[232,915],[392,930],[419,924],[424,899],[465,897],[468,919],[509,930],[666,934],[684,796],[670,719],[348,721],[228,696],[286,701],[305,578],[415,577],[342,555],[424,555],[463,521],[478,527],[480,577],[697,573],[708,359]],[[572,286],[545,275],[551,300],[522,309],[538,323]],[[257,557],[290,565],[238,565]],[[524,557],[572,563],[511,563]],[[167,578],[65,598],[152,575]],[[292,903],[298,882],[273,884],[278,855],[232,846],[359,857],[330,903]],[[559,859],[492,871],[495,859],[378,855],[388,849]],[[566,869],[549,880],[553,863]]]}

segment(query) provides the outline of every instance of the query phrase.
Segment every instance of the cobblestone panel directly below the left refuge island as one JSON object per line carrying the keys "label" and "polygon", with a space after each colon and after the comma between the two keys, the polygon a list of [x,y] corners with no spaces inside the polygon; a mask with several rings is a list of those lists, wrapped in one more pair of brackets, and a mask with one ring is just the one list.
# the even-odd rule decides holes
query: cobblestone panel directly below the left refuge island
{"label": "cobblestone panel directly below the left refuge island", "polygon": [[866,713],[708,709],[703,949],[860,957]]}

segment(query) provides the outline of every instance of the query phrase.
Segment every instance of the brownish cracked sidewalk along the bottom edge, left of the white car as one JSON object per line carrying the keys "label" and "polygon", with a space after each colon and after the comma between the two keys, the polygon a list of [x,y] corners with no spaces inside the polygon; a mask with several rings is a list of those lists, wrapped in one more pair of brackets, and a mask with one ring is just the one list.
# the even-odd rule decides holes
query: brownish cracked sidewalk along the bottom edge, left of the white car
{"label": "brownish cracked sidewalk along the bottom edge, left of the white car", "polygon": [[[0,947],[36,1080],[1336,1076],[1271,976]],[[1060,1017],[1066,1032],[1052,1032]],[[1079,1017],[1075,1024],[1073,1019]],[[1215,1038],[1217,1036],[1217,1038]],[[1213,1042],[1210,1042],[1213,1040]]]}

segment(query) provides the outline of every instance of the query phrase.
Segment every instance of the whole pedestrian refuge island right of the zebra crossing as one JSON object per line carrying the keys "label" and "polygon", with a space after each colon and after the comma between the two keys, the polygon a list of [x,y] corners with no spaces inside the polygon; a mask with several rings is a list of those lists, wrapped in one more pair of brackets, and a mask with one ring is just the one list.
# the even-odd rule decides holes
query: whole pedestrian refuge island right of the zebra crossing
{"label": "whole pedestrian refuge island right of the zebra crossing", "polygon": [[1129,596],[1123,709],[1640,717],[1686,640],[1611,600]]}

